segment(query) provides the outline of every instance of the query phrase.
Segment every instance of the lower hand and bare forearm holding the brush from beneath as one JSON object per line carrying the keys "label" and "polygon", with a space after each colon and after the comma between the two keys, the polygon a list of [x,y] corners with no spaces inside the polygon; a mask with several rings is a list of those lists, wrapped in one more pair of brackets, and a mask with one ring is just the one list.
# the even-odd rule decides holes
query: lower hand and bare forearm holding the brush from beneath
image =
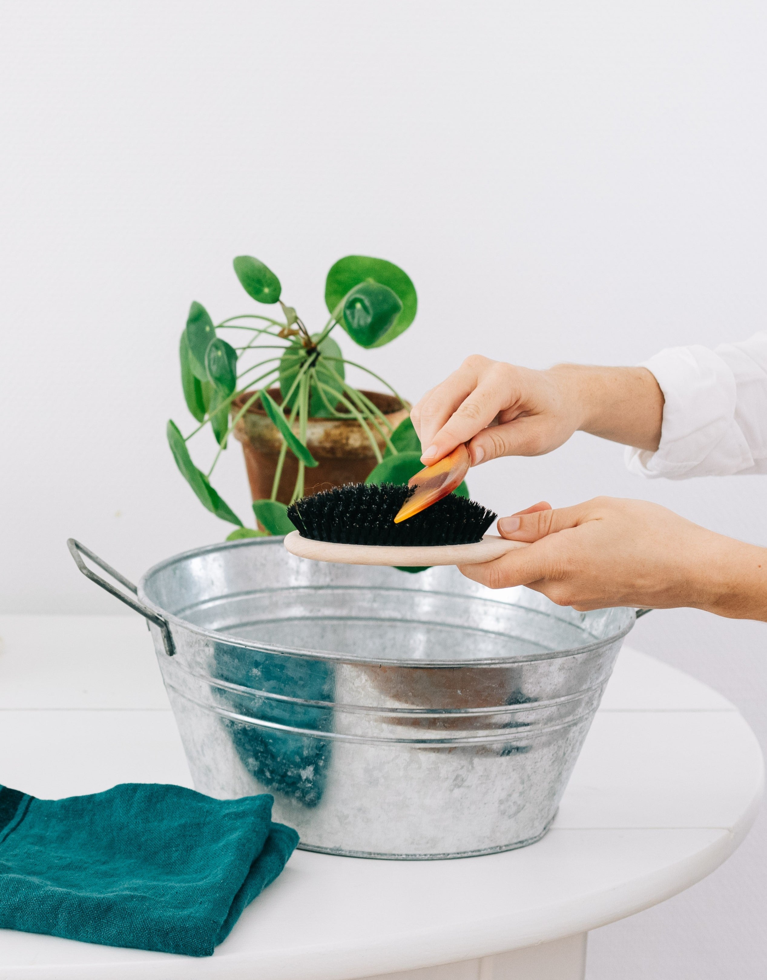
{"label": "lower hand and bare forearm holding the brush from beneath", "polygon": [[502,517],[504,538],[532,542],[460,571],[493,589],[526,585],[579,611],[692,606],[767,620],[767,549],[715,534],[657,504],[598,497]]}

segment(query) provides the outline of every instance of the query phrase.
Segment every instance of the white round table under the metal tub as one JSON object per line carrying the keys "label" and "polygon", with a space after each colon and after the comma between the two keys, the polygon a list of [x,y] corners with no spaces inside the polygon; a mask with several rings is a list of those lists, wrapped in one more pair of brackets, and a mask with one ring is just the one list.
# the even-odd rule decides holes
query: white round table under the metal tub
{"label": "white round table under the metal tub", "polygon": [[[0,637],[0,784],[43,798],[191,785],[142,620],[6,615]],[[624,649],[538,844],[441,861],[297,851],[214,956],[0,930],[0,980],[582,980],[588,931],[726,860],[762,781],[729,702]]]}

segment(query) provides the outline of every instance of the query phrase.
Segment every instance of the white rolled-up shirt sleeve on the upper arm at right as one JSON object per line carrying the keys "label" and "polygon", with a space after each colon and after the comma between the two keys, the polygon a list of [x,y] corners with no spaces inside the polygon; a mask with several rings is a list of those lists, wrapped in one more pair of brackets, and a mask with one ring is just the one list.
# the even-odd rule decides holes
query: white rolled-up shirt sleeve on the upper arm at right
{"label": "white rolled-up shirt sleeve on the upper arm at right", "polygon": [[767,473],[767,330],[740,344],[670,347],[643,365],[665,398],[654,453],[626,450],[643,476]]}

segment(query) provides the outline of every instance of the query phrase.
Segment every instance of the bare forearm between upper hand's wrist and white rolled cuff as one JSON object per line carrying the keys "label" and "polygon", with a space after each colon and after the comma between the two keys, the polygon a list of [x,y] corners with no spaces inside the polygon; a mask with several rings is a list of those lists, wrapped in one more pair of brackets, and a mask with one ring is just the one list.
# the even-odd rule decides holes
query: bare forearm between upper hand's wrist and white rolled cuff
{"label": "bare forearm between upper hand's wrist and white rolled cuff", "polygon": [[549,373],[575,407],[578,429],[653,453],[658,448],[663,392],[647,368],[557,365]]}

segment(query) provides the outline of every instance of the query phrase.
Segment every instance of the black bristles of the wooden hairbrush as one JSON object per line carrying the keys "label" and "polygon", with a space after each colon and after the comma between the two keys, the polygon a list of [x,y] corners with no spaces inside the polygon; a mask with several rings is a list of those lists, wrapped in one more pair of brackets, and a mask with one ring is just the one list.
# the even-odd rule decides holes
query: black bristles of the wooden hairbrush
{"label": "black bristles of the wooden hairbrush", "polygon": [[345,545],[464,545],[481,541],[498,515],[455,493],[395,524],[415,491],[394,483],[348,483],[303,497],[288,516],[302,537]]}

